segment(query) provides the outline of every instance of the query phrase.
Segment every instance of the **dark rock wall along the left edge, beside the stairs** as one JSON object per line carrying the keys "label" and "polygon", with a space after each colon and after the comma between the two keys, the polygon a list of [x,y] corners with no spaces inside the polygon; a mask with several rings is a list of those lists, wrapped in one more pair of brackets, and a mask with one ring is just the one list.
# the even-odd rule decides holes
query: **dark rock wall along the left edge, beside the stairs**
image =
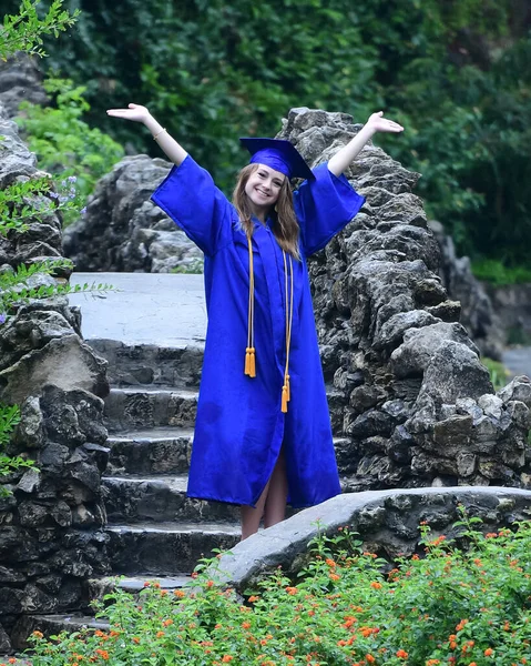
{"label": "dark rock wall along the left edge, beside the stairs", "polygon": [[[34,155],[0,107],[0,189],[39,175]],[[27,202],[31,204],[33,202]],[[0,238],[0,271],[61,255],[61,220],[34,220],[27,233]],[[29,285],[53,284],[34,275]],[[65,297],[30,300],[0,325],[0,402],[18,404],[21,422],[7,452],[34,461],[0,481],[0,654],[28,614],[83,606],[84,585],[110,571],[101,527],[100,476],[106,362],[80,337],[80,313]],[[7,492],[7,494],[6,494]]]}

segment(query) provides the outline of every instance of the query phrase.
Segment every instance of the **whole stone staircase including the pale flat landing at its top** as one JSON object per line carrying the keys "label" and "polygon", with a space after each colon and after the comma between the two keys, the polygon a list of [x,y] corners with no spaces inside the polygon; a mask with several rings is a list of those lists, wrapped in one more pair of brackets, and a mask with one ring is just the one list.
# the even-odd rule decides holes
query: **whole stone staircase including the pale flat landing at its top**
{"label": "whole stone staircase including the pale flat landing at its top", "polygon": [[[73,278],[90,283],[93,275]],[[118,584],[130,592],[141,589],[146,579],[181,587],[200,558],[239,541],[238,507],[185,493],[203,360],[201,331],[206,327],[203,276],[98,278],[118,282],[121,291],[101,301],[71,297],[81,306],[85,341],[109,363],[111,384],[105,400],[110,460],[102,485],[113,577],[91,581],[90,591],[101,597],[116,585],[116,576],[123,576]],[[140,303],[133,309],[130,292],[135,285]],[[163,302],[164,294],[171,303]],[[150,316],[151,327],[145,323]],[[345,444],[336,440],[339,463]],[[80,625],[102,627],[90,616],[54,615],[33,617],[28,633],[38,628],[57,634]]]}

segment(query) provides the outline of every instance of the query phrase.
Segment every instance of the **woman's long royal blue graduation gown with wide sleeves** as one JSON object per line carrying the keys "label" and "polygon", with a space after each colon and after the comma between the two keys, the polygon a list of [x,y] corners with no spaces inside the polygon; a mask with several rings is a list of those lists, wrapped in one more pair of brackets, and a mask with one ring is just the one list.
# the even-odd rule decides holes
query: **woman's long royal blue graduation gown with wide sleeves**
{"label": "woman's long royal blue graduation gown with wide sleeves", "polygon": [[269,223],[255,220],[256,377],[244,374],[248,245],[233,204],[188,155],[152,200],[205,254],[208,326],[188,476],[191,497],[254,506],[284,445],[288,502],[319,504],[340,492],[306,256],[358,212],[364,198],[323,164],[294,193],[302,261],[293,260],[290,401],[280,410],[286,360],[284,260]]}

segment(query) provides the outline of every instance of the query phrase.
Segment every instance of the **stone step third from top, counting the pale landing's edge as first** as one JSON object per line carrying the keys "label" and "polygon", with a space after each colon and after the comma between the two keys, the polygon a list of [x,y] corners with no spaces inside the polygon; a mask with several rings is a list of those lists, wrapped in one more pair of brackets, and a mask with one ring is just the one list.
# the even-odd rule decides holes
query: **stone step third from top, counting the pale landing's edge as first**
{"label": "stone step third from top, counting the pale landing's edge as first", "polygon": [[181,427],[124,431],[106,441],[108,474],[181,474],[190,467],[194,431]]}

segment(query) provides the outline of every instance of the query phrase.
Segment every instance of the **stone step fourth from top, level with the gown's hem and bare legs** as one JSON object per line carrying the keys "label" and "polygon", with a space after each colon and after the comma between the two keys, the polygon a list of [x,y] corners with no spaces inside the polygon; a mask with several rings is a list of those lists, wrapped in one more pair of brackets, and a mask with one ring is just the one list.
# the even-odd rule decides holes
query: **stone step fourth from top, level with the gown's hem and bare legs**
{"label": "stone step fourth from top, level with the gown's hem and bare legs", "polygon": [[239,521],[234,505],[186,497],[185,474],[105,476],[102,485],[110,523]]}

